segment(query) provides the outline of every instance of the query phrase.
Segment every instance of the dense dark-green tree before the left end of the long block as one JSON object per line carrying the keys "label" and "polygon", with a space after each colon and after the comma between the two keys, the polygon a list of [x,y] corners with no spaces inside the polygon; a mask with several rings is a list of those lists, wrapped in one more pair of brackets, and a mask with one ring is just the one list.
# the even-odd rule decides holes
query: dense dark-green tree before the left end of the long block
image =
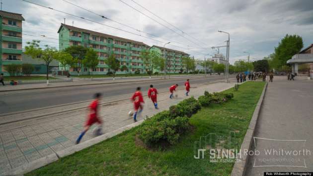
{"label": "dense dark-green tree before the left end of the long block", "polygon": [[76,45],[70,46],[64,50],[65,52],[72,55],[73,62],[74,62],[73,67],[77,69],[78,75],[83,65],[82,60],[85,58],[87,54],[87,50],[88,48],[85,48],[83,46],[76,46]]}

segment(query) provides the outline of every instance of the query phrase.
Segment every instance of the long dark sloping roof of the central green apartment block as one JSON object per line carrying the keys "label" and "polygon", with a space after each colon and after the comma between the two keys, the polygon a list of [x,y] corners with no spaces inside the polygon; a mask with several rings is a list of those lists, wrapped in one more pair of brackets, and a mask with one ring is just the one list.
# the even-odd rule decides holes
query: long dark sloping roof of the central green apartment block
{"label": "long dark sloping roof of the central green apartment block", "polygon": [[139,41],[135,41],[135,40],[130,40],[130,39],[126,39],[126,38],[122,38],[122,37],[117,37],[114,35],[109,35],[109,34],[104,34],[104,33],[100,33],[100,32],[96,32],[96,31],[92,31],[92,30],[88,30],[88,29],[83,29],[83,28],[79,28],[79,27],[75,27],[75,26],[70,26],[70,25],[66,25],[61,23],[61,26],[58,30],[58,33],[60,32],[62,27],[66,27],[72,31],[79,31],[79,32],[84,32],[84,33],[88,33],[88,34],[92,34],[92,35],[97,35],[97,36],[101,36],[101,37],[106,37],[106,38],[112,38],[112,39],[118,39],[118,40],[122,40],[122,41],[126,41],[126,42],[132,42],[132,43],[136,43],[136,44],[140,44],[140,45],[145,45],[148,46],[147,44],[143,43],[143,42],[139,42]]}

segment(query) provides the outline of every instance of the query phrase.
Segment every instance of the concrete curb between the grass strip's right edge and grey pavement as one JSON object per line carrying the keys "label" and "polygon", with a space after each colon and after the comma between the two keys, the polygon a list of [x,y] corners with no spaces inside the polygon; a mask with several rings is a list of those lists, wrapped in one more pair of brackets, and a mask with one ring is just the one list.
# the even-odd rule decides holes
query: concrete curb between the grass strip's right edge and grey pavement
{"label": "concrete curb between the grass strip's right edge and grey pavement", "polygon": [[[266,82],[266,85],[263,88],[260,99],[257,102],[256,107],[254,109],[249,127],[247,129],[247,132],[245,133],[245,136],[243,138],[243,141],[240,147],[241,151],[249,150],[252,145],[253,135],[255,132],[255,126],[257,123],[257,119],[259,117],[259,113],[260,113],[260,109],[263,103],[267,85],[268,85],[268,82]],[[245,171],[246,171],[246,166],[247,166],[248,161],[249,161],[249,155],[242,155],[241,163],[235,163],[231,176],[245,176]]]}

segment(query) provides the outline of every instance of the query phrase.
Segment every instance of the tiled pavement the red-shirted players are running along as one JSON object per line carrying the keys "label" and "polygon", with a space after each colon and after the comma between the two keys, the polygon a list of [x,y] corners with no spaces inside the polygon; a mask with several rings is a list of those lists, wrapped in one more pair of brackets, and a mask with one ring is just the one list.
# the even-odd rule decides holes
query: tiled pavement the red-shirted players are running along
{"label": "tiled pavement the red-shirted players are running along", "polygon": [[[205,90],[216,92],[225,88],[232,88],[234,85],[235,83],[191,85],[190,96],[198,97],[203,95]],[[143,120],[146,116],[152,116],[168,109],[170,105],[186,98],[184,93],[183,88],[180,88],[178,97],[174,99],[169,99],[168,93],[160,93],[158,95],[158,110],[154,108],[151,100],[145,97],[144,111],[138,120]],[[133,110],[133,105],[129,100],[120,101],[110,106],[101,106],[100,116],[104,121],[104,133],[132,124],[133,119],[128,116],[130,110]],[[16,122],[15,127],[17,128],[0,132],[0,173],[75,145],[75,141],[83,129],[86,113],[86,110],[82,109],[55,114],[49,118],[35,119],[32,124],[23,127],[18,127],[21,123]],[[91,133],[94,127],[96,126],[92,126],[81,142],[93,138]]]}

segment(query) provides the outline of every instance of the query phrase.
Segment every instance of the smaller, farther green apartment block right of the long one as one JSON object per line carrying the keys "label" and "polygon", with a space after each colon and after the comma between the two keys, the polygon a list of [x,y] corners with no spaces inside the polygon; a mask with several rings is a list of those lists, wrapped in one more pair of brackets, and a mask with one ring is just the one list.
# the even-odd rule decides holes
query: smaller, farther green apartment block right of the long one
{"label": "smaller, farther green apartment block right of the long one", "polygon": [[185,72],[185,68],[182,65],[182,57],[188,57],[189,54],[177,51],[169,48],[163,48],[160,46],[153,45],[150,50],[155,50],[161,54],[163,58],[166,59],[166,73],[179,73],[182,69]]}

